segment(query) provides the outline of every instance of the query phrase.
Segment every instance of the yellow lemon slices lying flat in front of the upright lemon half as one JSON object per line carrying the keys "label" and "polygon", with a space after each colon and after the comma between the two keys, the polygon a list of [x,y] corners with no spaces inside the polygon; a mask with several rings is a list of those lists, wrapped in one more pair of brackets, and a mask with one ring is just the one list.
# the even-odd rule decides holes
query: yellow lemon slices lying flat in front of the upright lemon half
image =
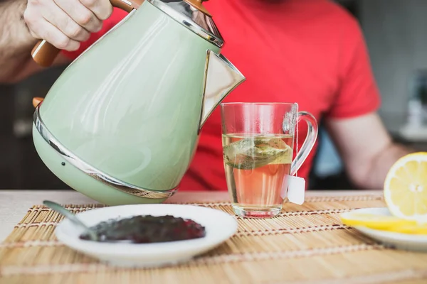
{"label": "yellow lemon slices lying flat in front of the upright lemon half", "polygon": [[379,214],[347,212],[341,215],[341,221],[347,226],[366,226],[371,229],[394,231],[396,227],[413,227],[415,221],[401,219],[394,216]]}

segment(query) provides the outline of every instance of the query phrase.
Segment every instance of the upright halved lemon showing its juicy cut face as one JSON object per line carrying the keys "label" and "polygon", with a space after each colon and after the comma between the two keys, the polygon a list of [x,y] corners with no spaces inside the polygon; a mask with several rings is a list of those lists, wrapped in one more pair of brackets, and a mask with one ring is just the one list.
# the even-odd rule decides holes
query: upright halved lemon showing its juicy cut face
{"label": "upright halved lemon showing its juicy cut face", "polygon": [[405,155],[391,166],[384,199],[395,217],[427,223],[427,153]]}

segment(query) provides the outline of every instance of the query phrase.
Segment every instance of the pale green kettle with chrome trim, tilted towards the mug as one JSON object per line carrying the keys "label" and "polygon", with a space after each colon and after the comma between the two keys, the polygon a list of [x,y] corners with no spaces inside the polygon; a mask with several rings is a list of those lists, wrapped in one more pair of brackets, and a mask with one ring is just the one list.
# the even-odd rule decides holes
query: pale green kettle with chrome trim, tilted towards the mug
{"label": "pale green kettle with chrome trim, tilted towards the mug", "polygon": [[[33,115],[43,163],[103,204],[159,203],[176,190],[201,127],[245,77],[201,0],[115,0],[130,12],[58,77]],[[58,54],[45,40],[33,59]]]}

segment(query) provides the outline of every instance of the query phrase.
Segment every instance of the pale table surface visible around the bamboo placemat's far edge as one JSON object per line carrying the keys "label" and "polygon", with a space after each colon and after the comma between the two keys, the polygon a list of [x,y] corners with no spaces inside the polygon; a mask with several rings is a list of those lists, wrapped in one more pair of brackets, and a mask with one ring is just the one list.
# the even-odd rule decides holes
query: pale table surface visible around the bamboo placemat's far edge
{"label": "pale table surface visible around the bamboo placemat's far edge", "polygon": [[[378,195],[380,190],[307,191],[307,197]],[[0,190],[0,242],[21,221],[27,210],[43,200],[60,204],[94,204],[94,200],[74,190]],[[167,202],[214,202],[228,200],[228,192],[177,192]]]}

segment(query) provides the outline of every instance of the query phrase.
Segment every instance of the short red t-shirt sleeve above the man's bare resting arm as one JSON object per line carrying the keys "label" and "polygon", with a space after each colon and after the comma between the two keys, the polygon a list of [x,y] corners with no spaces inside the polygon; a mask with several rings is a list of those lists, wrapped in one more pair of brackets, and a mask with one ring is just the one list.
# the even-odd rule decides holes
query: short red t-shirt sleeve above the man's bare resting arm
{"label": "short red t-shirt sleeve above the man's bare resting arm", "polygon": [[356,20],[342,32],[339,87],[330,118],[350,118],[379,109],[381,97],[376,86],[367,46]]}

